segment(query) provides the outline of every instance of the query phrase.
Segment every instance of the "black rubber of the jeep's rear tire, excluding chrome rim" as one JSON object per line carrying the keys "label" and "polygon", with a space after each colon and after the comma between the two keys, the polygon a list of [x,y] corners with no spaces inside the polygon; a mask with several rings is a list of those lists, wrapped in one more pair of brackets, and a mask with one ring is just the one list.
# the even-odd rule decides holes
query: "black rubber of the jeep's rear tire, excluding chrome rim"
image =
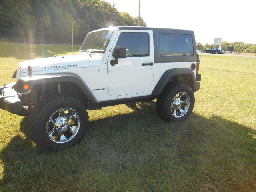
{"label": "black rubber of the jeep's rear tire, excluding chrome rim", "polygon": [[[190,97],[190,106],[188,108],[188,111],[184,116],[182,117],[175,117],[172,114],[171,111],[171,102],[174,96],[176,96],[180,92],[185,92]],[[156,112],[160,118],[167,122],[179,122],[186,120],[190,114],[192,113],[192,110],[194,108],[195,104],[195,96],[192,88],[184,83],[169,83],[166,85],[166,88],[164,88],[162,94],[157,98],[156,101]]]}

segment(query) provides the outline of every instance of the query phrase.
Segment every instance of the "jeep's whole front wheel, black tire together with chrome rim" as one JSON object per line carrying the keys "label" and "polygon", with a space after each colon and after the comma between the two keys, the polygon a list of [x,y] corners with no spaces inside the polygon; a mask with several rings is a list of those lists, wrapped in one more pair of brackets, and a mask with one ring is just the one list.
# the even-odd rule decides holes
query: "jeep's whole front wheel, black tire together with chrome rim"
{"label": "jeep's whole front wheel, black tire together with chrome rim", "polygon": [[85,105],[77,98],[59,96],[35,111],[32,140],[43,150],[64,149],[77,143],[88,127]]}

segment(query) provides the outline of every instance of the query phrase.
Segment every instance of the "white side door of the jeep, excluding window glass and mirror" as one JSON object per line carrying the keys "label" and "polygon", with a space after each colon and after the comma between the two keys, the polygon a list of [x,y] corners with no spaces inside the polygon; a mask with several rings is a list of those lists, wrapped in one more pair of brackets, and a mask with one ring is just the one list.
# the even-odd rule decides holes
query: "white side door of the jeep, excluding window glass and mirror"
{"label": "white side door of the jeep, excluding window glass and mirror", "polygon": [[108,57],[108,92],[112,96],[118,96],[118,98],[128,98],[131,97],[130,94],[134,97],[134,94],[139,96],[140,93],[146,92],[153,80],[154,65],[142,66],[142,63],[154,62],[153,32],[152,30],[132,30],[132,32],[149,34],[149,56],[119,58],[119,63],[112,66],[110,61],[114,59],[113,50],[122,32],[131,32],[131,30],[119,30],[110,51]]}

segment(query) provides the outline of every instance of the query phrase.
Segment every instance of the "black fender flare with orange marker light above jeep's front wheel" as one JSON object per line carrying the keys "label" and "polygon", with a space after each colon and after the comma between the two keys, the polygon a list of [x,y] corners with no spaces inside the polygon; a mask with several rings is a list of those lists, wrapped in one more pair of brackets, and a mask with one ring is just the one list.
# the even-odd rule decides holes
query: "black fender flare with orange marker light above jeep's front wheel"
{"label": "black fender flare with orange marker light above jeep's front wheel", "polygon": [[26,76],[20,78],[17,83],[14,85],[14,90],[18,93],[27,93],[28,90],[25,90],[23,86],[26,84],[29,87],[45,84],[45,83],[58,83],[58,82],[72,82],[75,83],[87,97],[91,104],[97,102],[96,98],[84,83],[84,81],[74,73],[50,73],[50,74],[40,74],[33,76]]}

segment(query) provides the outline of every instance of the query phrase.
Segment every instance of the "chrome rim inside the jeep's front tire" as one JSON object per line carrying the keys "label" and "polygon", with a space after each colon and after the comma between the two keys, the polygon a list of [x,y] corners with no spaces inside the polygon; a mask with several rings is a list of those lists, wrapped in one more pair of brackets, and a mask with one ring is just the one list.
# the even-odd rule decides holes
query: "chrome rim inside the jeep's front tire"
{"label": "chrome rim inside the jeep's front tire", "polygon": [[55,143],[66,143],[72,140],[80,128],[80,116],[72,108],[61,108],[55,111],[46,124],[46,132]]}

